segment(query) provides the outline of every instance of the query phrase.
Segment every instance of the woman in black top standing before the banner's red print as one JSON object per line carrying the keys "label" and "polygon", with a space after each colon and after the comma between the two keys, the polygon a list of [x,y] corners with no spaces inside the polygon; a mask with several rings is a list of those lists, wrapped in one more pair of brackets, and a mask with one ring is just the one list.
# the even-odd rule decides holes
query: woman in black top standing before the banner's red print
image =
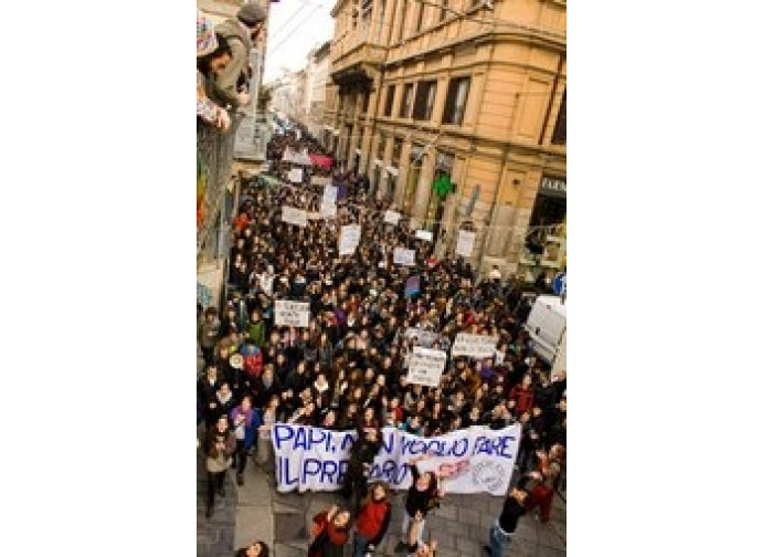
{"label": "woman in black top standing before the banner's red print", "polygon": [[[440,505],[442,492],[437,485],[434,472],[421,474],[417,463],[423,456],[416,456],[410,461],[410,471],[413,482],[408,490],[405,498],[405,512],[402,517],[402,539],[396,544],[394,553],[403,553],[410,547],[423,544],[423,528],[426,525],[426,515]],[[411,527],[415,525],[415,527]]]}

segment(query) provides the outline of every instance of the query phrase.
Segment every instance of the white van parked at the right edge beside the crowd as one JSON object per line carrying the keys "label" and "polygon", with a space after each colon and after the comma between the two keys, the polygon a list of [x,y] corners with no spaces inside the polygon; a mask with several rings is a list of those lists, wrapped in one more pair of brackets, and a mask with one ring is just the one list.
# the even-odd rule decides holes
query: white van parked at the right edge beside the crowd
{"label": "white van parked at the right edge beside the crowd", "polygon": [[[525,328],[537,356],[553,368],[565,371],[567,306],[559,296],[538,296]],[[560,361],[563,359],[563,361]]]}

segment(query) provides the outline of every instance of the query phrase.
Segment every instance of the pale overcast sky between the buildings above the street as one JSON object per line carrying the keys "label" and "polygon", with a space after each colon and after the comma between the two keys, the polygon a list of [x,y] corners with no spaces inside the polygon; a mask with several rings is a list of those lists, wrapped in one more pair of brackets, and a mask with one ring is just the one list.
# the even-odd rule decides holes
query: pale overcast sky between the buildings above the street
{"label": "pale overcast sky between the buildings above the street", "polygon": [[264,82],[276,78],[282,67],[301,70],[307,53],[334,36],[330,10],[335,0],[281,0],[271,4]]}

